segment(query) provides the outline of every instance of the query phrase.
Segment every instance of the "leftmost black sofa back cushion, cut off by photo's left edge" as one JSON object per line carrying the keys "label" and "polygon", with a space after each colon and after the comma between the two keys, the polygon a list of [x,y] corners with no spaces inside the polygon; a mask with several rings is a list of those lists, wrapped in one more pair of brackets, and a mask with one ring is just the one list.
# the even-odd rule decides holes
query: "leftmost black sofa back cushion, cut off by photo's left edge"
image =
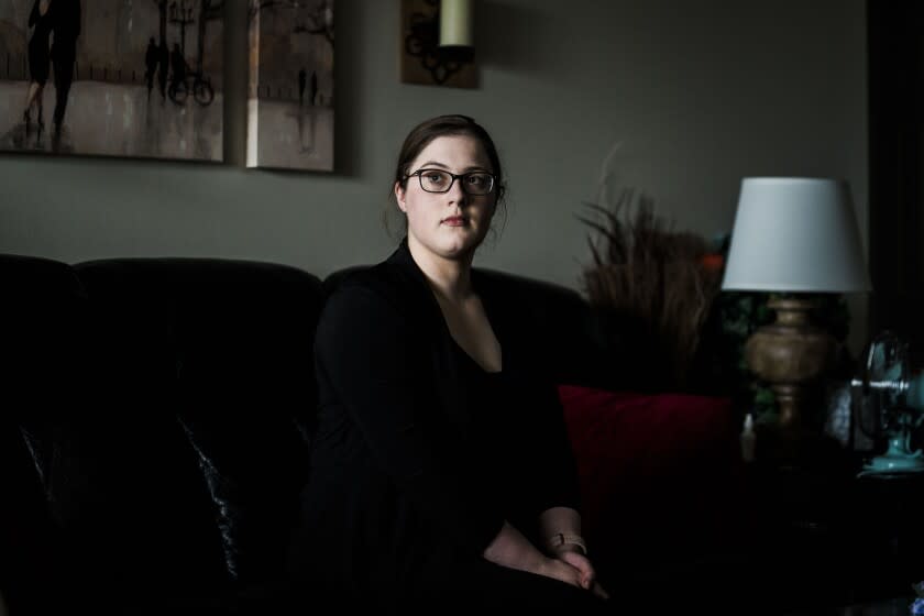
{"label": "leftmost black sofa back cushion, cut off by photo's left edge", "polygon": [[21,430],[85,400],[87,296],[66,264],[9,254],[0,255],[0,593],[13,614],[52,612],[55,527]]}

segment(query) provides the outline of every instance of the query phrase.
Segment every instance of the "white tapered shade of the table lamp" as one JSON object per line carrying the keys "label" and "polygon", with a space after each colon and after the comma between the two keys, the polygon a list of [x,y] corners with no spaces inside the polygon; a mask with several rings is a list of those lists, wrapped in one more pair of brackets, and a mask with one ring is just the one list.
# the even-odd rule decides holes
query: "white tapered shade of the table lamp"
{"label": "white tapered shade of the table lamp", "polygon": [[749,177],[722,288],[851,293],[871,288],[846,182]]}

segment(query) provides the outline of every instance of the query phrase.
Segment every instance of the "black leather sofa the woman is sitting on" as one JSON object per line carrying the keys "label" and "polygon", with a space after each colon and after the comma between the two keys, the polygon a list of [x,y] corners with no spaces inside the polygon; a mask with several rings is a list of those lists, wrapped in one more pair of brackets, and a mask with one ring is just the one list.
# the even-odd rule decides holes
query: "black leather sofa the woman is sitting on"
{"label": "black leather sofa the woman is sitting on", "polygon": [[[283,574],[310,444],[314,326],[345,272],[0,255],[11,616],[175,614]],[[560,382],[615,374],[576,293],[496,275],[527,298]]]}

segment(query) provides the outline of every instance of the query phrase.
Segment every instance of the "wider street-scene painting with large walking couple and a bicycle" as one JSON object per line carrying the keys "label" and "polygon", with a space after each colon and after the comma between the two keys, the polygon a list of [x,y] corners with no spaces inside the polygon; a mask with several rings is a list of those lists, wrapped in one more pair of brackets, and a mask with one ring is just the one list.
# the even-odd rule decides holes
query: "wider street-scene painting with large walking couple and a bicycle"
{"label": "wider street-scene painting with large walking couple and a bicycle", "polygon": [[219,162],[224,0],[0,0],[0,150]]}

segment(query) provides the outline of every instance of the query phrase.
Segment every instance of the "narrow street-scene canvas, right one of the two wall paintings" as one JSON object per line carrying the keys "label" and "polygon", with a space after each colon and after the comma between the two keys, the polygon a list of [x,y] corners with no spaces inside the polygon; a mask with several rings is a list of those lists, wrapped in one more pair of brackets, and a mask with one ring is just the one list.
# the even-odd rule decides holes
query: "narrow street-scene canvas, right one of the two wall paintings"
{"label": "narrow street-scene canvas, right one of the two wall paintings", "polygon": [[333,170],[333,0],[248,1],[248,167]]}

